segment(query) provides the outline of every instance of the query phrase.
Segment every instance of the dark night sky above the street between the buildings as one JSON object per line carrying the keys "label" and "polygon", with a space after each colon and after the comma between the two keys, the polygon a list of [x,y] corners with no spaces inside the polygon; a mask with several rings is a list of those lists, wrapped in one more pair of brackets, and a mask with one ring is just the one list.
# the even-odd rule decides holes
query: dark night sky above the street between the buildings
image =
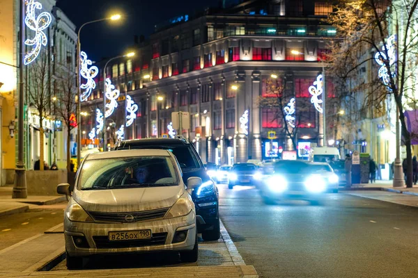
{"label": "dark night sky above the street between the buildings", "polygon": [[155,24],[178,15],[194,14],[219,0],[57,0],[70,20],[78,27],[85,22],[120,13],[121,22],[100,22],[85,26],[81,32],[82,50],[91,60],[124,54],[134,42],[134,35],[149,35]]}

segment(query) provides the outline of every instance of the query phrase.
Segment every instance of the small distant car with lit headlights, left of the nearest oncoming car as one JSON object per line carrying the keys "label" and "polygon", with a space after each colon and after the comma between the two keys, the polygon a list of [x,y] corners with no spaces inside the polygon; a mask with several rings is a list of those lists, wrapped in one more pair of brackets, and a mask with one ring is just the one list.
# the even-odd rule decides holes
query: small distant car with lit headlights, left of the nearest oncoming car
{"label": "small distant car with lit headlights, left of the nearest oncoming car", "polygon": [[234,164],[228,174],[228,188],[232,189],[238,185],[256,185],[256,182],[261,179],[263,179],[263,174],[256,165],[252,163]]}

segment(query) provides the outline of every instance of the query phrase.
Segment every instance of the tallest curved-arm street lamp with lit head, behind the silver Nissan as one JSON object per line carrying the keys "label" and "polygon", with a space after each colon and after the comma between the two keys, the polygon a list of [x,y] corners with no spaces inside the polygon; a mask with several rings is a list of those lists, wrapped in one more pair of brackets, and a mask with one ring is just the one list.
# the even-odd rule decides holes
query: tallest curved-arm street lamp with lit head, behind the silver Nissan
{"label": "tallest curved-arm street lamp with lit head, behind the silver Nissan", "polygon": [[[111,17],[106,17],[102,19],[93,20],[91,22],[84,23],[78,31],[77,34],[77,79],[76,79],[76,85],[77,85],[77,167],[79,167],[81,163],[81,154],[82,154],[82,127],[80,125],[81,122],[81,116],[80,112],[82,111],[82,101],[81,101],[81,90],[80,90],[80,53],[81,53],[81,44],[80,44],[80,32],[82,31],[82,28],[88,24],[96,23],[96,22],[104,22],[107,20],[118,20],[121,19],[121,15],[112,15]],[[104,111],[103,111],[104,115]]]}

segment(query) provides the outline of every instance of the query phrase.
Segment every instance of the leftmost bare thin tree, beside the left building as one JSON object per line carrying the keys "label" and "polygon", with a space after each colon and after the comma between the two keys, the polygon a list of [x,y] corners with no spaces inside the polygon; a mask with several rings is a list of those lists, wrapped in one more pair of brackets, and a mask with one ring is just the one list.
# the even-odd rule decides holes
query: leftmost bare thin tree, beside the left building
{"label": "leftmost bare thin tree, beside the left building", "polygon": [[27,92],[29,95],[29,103],[33,106],[39,117],[39,165],[40,170],[44,170],[44,129],[43,120],[50,115],[51,95],[49,91],[49,84],[52,80],[49,74],[48,56],[45,51],[41,51],[38,58],[28,67],[29,81]]}

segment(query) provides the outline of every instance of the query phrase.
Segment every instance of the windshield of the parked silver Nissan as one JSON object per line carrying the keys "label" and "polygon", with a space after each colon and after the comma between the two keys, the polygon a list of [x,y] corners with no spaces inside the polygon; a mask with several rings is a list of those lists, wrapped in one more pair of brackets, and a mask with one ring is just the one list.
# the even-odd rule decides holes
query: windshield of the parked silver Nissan
{"label": "windshield of the parked silver Nissan", "polygon": [[102,158],[86,161],[79,189],[101,190],[177,186],[175,162],[168,156]]}

